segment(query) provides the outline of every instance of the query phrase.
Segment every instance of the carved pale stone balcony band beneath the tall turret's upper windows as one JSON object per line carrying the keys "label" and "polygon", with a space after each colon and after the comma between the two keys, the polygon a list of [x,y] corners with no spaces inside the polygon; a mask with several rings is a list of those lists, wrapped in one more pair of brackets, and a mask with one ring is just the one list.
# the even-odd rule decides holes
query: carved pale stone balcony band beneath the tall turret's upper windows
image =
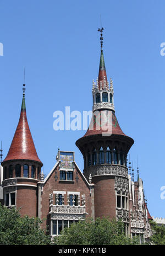
{"label": "carved pale stone balcony band beneath the tall turret's upper windows", "polygon": [[89,175],[119,175],[128,178],[128,168],[120,166],[119,164],[96,164],[96,166],[89,166],[84,169],[86,179]]}

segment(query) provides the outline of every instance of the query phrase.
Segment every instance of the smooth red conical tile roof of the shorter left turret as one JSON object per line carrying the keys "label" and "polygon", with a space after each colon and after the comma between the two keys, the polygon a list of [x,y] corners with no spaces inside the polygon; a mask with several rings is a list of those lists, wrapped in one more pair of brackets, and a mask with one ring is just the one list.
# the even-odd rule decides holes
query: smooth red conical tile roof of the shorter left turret
{"label": "smooth red conical tile roof of the shorter left turret", "polygon": [[15,131],[13,141],[9,148],[7,157],[5,157],[3,163],[6,161],[20,160],[20,159],[37,161],[40,164],[42,164],[42,162],[37,156],[34,141],[32,140],[31,132],[27,122],[24,96],[23,96],[23,102],[21,106],[21,113],[20,113],[18,126]]}

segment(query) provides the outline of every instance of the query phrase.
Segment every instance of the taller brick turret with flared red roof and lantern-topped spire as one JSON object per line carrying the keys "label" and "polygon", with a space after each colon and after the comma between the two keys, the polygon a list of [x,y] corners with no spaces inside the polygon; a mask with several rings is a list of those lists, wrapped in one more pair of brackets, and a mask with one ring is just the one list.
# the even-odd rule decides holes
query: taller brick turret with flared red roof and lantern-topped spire
{"label": "taller brick turret with flared red roof and lantern-topped spire", "polygon": [[[95,184],[95,217],[125,215],[129,225],[127,154],[134,140],[120,128],[113,99],[113,81],[108,83],[102,44],[98,78],[93,81],[93,116],[86,134],[76,141],[84,157],[84,175]],[[127,226],[128,228],[128,226]]]}

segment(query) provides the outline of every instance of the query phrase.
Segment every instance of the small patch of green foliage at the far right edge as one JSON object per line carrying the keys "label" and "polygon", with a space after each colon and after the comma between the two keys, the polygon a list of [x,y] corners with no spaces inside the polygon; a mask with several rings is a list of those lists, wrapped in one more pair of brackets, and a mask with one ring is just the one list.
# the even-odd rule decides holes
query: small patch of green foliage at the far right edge
{"label": "small patch of green foliage at the far right edge", "polygon": [[150,243],[155,245],[165,244],[165,227],[163,225],[159,226],[155,221],[150,221],[151,229],[153,234],[150,237]]}

